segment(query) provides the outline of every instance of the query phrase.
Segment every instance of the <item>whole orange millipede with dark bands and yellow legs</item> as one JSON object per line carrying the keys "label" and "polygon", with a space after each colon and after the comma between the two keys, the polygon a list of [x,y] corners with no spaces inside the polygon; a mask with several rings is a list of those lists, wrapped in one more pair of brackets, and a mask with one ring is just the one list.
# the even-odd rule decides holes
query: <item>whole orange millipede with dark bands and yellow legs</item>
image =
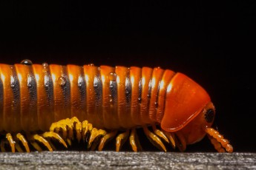
{"label": "whole orange millipede with dark bands and yellow legs", "polygon": [[171,69],[0,64],[1,152],[53,151],[74,140],[102,151],[113,139],[116,152],[127,141],[138,152],[137,129],[164,152],[184,152],[206,135],[217,152],[233,152],[211,128],[214,117],[206,90]]}

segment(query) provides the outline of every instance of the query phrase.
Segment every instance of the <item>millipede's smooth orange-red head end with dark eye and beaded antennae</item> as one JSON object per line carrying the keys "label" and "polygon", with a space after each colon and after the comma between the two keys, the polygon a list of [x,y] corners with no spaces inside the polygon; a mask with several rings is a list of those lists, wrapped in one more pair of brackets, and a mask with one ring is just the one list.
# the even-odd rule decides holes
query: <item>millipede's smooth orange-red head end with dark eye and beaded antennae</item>
{"label": "millipede's smooth orange-red head end with dark eye and beaded antennae", "polygon": [[214,105],[206,90],[186,75],[174,75],[167,87],[161,128],[177,135],[183,145],[182,150],[187,144],[196,143],[208,134],[218,152],[223,152],[223,148],[232,152],[228,140],[210,128],[214,116]]}

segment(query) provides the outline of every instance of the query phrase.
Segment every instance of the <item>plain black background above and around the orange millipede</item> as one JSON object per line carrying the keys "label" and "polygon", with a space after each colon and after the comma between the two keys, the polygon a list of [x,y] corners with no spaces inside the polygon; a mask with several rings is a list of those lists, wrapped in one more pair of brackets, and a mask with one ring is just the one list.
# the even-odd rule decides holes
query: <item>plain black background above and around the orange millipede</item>
{"label": "plain black background above and around the orange millipede", "polygon": [[[183,72],[209,92],[234,152],[256,152],[255,2],[1,1],[0,63]],[[208,139],[188,151],[214,151]]]}

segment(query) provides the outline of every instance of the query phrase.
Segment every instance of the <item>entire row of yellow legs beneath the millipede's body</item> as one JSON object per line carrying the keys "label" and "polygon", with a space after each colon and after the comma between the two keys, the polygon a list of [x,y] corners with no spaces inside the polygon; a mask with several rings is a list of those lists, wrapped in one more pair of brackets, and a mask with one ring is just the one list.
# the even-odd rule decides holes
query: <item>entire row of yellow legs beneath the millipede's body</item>
{"label": "entire row of yellow legs beneath the millipede's body", "polygon": [[[166,152],[165,143],[171,143],[171,146],[175,148],[175,136],[169,132],[162,132],[153,126],[153,132],[151,132],[146,126],[142,127],[145,135],[160,150]],[[108,141],[116,137],[116,152],[119,152],[122,145],[129,139],[131,149],[134,152],[142,150],[140,141],[137,136],[136,129],[128,129],[125,132],[118,134],[118,131],[106,132],[102,129],[96,129],[88,120],[80,122],[76,117],[67,118],[64,120],[59,120],[56,123],[52,123],[49,132],[44,132],[42,134],[26,134],[22,133],[10,134],[7,133],[6,139],[1,140],[1,152],[6,152],[5,146],[9,145],[11,152],[30,152],[29,143],[38,152],[42,152],[42,145],[52,152],[55,150],[51,140],[58,140],[62,146],[68,148],[72,145],[72,140],[80,142],[83,140],[87,143],[87,149],[102,151],[104,146]],[[41,143],[41,145],[39,145]],[[68,145],[66,144],[68,143]],[[22,145],[22,146],[21,146]]]}

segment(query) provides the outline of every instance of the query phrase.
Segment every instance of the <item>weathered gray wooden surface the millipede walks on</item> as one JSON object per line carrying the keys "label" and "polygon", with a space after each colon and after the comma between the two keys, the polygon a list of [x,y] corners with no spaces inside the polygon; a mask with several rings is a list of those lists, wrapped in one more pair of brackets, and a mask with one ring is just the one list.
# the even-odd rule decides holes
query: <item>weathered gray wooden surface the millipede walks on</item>
{"label": "weathered gray wooden surface the millipede walks on", "polygon": [[0,153],[0,169],[256,169],[256,153]]}

